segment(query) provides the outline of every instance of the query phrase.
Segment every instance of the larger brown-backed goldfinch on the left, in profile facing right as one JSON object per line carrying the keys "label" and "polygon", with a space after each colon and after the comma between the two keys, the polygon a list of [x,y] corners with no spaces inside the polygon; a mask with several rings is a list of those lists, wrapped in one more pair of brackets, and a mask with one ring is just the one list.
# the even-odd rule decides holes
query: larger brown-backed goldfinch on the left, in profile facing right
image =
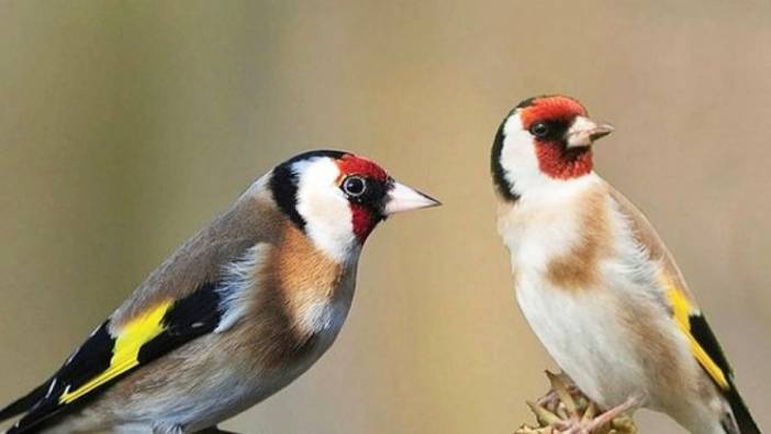
{"label": "larger brown-backed goldfinch on the left, in profile facing right", "polygon": [[47,380],[0,410],[7,434],[224,432],[332,345],[365,241],[440,204],[349,152],[311,151],[254,181],[182,244]]}

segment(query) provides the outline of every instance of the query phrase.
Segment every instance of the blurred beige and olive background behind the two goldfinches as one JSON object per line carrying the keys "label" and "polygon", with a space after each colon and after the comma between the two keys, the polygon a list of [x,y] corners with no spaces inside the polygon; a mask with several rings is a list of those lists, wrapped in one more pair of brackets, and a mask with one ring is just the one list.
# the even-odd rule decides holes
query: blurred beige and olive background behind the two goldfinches
{"label": "blurred beige and olive background behind the two goldfinches", "polygon": [[[445,207],[390,220],[329,353],[224,426],[511,433],[551,367],[494,231],[493,133],[566,92],[771,430],[768,1],[0,1],[0,401],[44,379],[256,176],[370,156]],[[642,433],[680,433],[638,413]]]}

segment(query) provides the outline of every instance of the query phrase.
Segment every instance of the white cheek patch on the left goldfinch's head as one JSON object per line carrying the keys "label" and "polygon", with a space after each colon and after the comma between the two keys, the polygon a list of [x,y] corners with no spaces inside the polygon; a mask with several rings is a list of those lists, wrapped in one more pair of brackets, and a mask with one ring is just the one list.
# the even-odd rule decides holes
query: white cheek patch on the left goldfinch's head
{"label": "white cheek patch on the left goldfinch's head", "polygon": [[305,233],[335,263],[349,260],[359,246],[350,205],[337,188],[339,168],[334,160],[319,157],[298,162],[292,170],[299,175],[297,210],[305,220]]}

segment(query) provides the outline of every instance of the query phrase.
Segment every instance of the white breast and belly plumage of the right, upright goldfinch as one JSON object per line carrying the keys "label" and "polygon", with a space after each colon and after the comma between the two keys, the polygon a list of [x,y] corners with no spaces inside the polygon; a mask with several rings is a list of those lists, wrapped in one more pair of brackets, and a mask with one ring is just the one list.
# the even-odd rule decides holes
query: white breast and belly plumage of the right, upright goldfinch
{"label": "white breast and belly plumage of the right, upright goldfinch", "polygon": [[581,242],[581,203],[571,198],[592,183],[577,186],[559,200],[517,202],[501,214],[499,231],[511,251],[516,299],[530,327],[584,393],[613,407],[633,394],[644,398],[648,388],[644,359],[618,314],[622,300],[645,292],[635,281],[638,270],[603,260],[599,285],[611,285],[611,290],[561,288],[547,278],[549,263]]}

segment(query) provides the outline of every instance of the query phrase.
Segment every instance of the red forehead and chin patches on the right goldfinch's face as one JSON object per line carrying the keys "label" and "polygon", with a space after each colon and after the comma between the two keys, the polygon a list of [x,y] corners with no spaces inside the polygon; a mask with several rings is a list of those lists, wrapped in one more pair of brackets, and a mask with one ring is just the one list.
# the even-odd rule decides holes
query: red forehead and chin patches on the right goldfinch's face
{"label": "red forehead and chin patches on the right goldfinch's face", "polygon": [[[525,130],[537,122],[546,122],[551,127],[567,131],[576,116],[586,116],[586,109],[572,98],[555,96],[533,100],[532,105],[522,109],[519,119]],[[590,148],[568,149],[561,137],[536,138],[536,156],[540,170],[557,179],[577,178],[592,171]]]}

